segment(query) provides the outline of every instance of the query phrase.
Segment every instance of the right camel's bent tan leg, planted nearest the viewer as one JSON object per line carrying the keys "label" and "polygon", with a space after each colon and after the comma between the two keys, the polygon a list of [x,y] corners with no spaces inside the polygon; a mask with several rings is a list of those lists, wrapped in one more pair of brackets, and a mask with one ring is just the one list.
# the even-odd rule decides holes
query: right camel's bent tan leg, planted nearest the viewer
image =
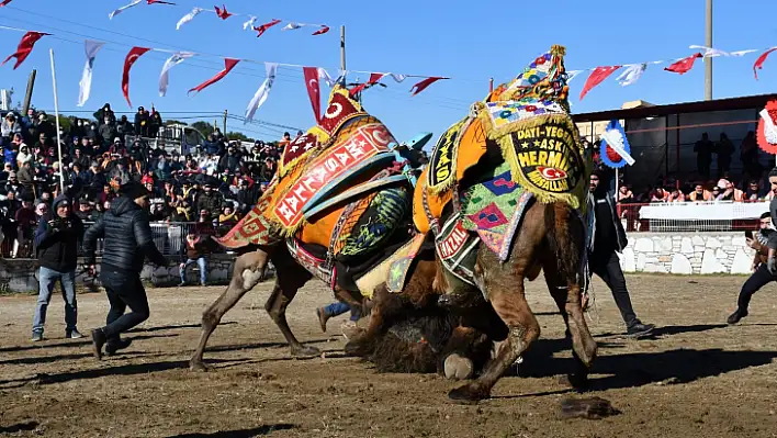
{"label": "right camel's bent tan leg, planted nearest the viewer", "polygon": [[523,261],[523,263],[503,265],[489,249],[481,249],[475,266],[475,280],[484,288],[494,311],[507,325],[508,335],[503,348],[488,363],[483,374],[448,393],[451,400],[472,403],[489,397],[494,384],[540,336],[540,325],[526,302],[525,271],[519,267],[530,263]]}

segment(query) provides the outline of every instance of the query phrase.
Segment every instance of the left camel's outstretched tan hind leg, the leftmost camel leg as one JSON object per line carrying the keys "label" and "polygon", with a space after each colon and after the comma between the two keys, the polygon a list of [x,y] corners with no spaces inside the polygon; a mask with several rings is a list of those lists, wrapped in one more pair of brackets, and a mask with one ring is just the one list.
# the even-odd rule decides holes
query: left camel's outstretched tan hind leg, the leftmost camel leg
{"label": "left camel's outstretched tan hind leg, the leftmost camel leg", "polygon": [[232,280],[227,290],[202,314],[200,344],[198,344],[194,355],[189,360],[189,368],[192,371],[205,371],[207,369],[202,361],[207,339],[218,326],[222,316],[234,307],[246,292],[250,291],[262,280],[267,260],[268,255],[263,250],[247,252],[235,259],[235,267],[233,268]]}

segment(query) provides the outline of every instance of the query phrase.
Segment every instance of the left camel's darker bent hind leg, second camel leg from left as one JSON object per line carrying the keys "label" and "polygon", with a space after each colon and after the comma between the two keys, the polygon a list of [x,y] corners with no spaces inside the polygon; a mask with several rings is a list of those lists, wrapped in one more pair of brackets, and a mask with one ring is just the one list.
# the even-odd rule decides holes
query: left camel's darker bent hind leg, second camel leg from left
{"label": "left camel's darker bent hind leg, second camel leg from left", "polygon": [[279,249],[273,254],[277,279],[270,297],[264,303],[264,310],[286,338],[292,356],[312,357],[320,355],[315,347],[303,346],[294,336],[286,322],[286,307],[294,300],[296,292],[313,278],[305,268],[300,266],[288,251]]}

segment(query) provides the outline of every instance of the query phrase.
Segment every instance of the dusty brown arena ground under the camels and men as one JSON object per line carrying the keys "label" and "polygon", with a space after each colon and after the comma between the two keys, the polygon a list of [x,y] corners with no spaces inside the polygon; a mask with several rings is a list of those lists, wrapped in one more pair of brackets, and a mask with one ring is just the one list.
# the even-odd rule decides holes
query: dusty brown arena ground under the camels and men
{"label": "dusty brown arena ground under the camels and men", "polygon": [[[31,344],[34,296],[0,297],[0,436],[29,437],[777,437],[777,290],[727,327],[741,277],[627,278],[640,316],[661,328],[627,340],[609,291],[594,283],[590,323],[600,345],[593,391],[570,392],[563,324],[543,282],[528,296],[542,326],[518,375],[476,406],[447,401],[437,375],[376,374],[344,358],[339,319],[320,333],[314,308],[330,301],[311,283],[290,307],[297,337],[326,351],[295,360],[263,310],[269,284],[246,295],[212,337],[207,373],[187,369],[203,308],[223,288],[150,290],[151,318],[125,355],[97,362],[89,342],[63,339],[61,299],[47,340]],[[102,293],[79,296],[79,326],[100,325]],[[559,417],[565,397],[599,396],[622,414]]]}

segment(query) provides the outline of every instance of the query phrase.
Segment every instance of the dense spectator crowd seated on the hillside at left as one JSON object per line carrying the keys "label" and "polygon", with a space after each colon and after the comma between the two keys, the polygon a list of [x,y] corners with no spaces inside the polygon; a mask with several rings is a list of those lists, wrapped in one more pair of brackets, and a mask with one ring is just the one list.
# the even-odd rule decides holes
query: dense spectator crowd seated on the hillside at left
{"label": "dense spectator crowd seated on the hillside at left", "polygon": [[2,114],[2,257],[32,256],[33,231],[60,194],[72,200],[75,215],[88,227],[110,209],[119,187],[131,181],[151,193],[153,222],[192,223],[196,235],[226,233],[256,204],[291,142],[285,133],[280,142],[247,147],[215,128],[200,150],[183,155],[157,138],[164,122],[154,108],[138,108],[133,122],[117,117],[110,104],[93,115],[71,117],[70,126],[60,128],[59,162],[53,116],[34,110],[23,116]]}

